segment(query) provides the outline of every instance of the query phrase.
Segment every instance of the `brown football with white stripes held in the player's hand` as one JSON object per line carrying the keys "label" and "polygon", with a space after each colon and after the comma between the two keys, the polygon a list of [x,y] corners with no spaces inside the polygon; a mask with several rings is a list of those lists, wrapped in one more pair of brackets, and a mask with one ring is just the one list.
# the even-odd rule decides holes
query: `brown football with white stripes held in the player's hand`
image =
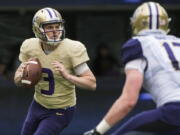
{"label": "brown football with white stripes held in the player's hand", "polygon": [[21,83],[25,88],[34,87],[41,79],[41,63],[37,58],[30,59],[23,71]]}

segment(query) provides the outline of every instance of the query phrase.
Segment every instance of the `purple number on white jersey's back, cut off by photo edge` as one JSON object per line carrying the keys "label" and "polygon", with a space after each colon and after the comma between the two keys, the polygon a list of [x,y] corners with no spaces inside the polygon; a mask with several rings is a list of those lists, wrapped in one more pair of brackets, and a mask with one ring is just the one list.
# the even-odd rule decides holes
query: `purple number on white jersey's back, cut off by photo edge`
{"label": "purple number on white jersey's back, cut off by photo edge", "polygon": [[177,60],[177,58],[175,57],[174,52],[173,52],[173,50],[172,50],[173,47],[180,47],[180,43],[172,42],[172,43],[170,44],[170,43],[164,42],[164,43],[163,43],[163,46],[164,46],[164,48],[165,48],[165,50],[166,50],[166,52],[167,52],[167,54],[168,54],[169,59],[171,60],[172,66],[173,66],[176,70],[180,70],[178,60]]}

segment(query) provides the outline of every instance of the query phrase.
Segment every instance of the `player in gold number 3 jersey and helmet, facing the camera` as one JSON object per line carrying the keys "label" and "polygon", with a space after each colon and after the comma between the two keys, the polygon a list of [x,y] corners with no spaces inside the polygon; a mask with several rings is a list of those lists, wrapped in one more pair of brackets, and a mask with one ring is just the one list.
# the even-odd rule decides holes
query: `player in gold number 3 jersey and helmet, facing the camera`
{"label": "player in gold number 3 jersey and helmet, facing the camera", "polygon": [[37,11],[33,18],[36,38],[26,39],[20,49],[14,81],[22,85],[23,69],[30,58],[38,58],[42,78],[35,86],[34,98],[21,135],[59,135],[72,119],[75,86],[95,90],[96,79],[87,65],[85,46],[65,38],[64,20],[53,8]]}

